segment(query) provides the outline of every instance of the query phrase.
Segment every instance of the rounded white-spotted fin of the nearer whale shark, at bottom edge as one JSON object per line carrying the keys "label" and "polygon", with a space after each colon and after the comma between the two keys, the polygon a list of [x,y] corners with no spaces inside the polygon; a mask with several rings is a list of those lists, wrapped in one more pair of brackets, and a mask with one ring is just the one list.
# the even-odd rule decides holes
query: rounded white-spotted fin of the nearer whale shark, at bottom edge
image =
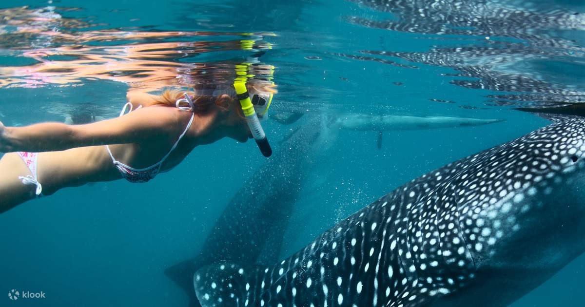
{"label": "rounded white-spotted fin of the nearer whale shark, at bottom edge", "polygon": [[207,265],[193,275],[195,294],[202,307],[241,306],[247,293],[254,291],[257,272],[259,267],[232,263]]}

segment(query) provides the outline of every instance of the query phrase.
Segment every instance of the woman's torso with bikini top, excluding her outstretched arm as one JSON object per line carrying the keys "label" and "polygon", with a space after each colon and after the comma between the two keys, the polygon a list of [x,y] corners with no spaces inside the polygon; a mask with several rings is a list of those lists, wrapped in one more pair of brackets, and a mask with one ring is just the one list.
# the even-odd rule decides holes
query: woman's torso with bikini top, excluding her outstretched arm
{"label": "woman's torso with bikini top, excluding her outstretched arm", "polygon": [[[43,160],[43,164],[38,168],[38,180],[43,182],[44,194],[50,195],[60,188],[77,187],[93,181],[126,178],[131,182],[144,182],[154,178],[160,171],[168,171],[183,161],[194,147],[192,133],[186,129],[187,126],[191,126],[189,124],[193,117],[192,113],[181,112],[170,106],[154,105],[148,108],[156,108],[157,112],[161,113],[160,120],[167,119],[168,125],[166,129],[149,137],[146,142],[87,146],[40,153],[39,158]],[[171,116],[164,116],[163,113],[169,113]],[[169,118],[171,120],[168,120]],[[173,149],[174,144],[177,146]],[[125,168],[129,168],[132,173],[135,173],[134,170],[138,172],[125,174],[123,173]],[[140,170],[144,168],[154,170],[154,173],[147,174],[145,178],[144,175],[140,175]]]}

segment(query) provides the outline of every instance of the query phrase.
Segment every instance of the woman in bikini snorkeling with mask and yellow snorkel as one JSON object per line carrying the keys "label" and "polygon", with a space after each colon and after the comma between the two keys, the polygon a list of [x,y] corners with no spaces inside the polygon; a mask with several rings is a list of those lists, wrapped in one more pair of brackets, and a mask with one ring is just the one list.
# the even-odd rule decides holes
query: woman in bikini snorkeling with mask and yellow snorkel
{"label": "woman in bikini snorkeling with mask and yellow snorkel", "polygon": [[266,114],[274,85],[250,80],[234,86],[236,91],[167,90],[160,96],[129,92],[118,118],[87,125],[0,122],[0,152],[6,153],[0,159],[0,213],[88,182],[152,180],[195,147],[223,137],[239,142],[254,137],[270,156],[256,113]]}

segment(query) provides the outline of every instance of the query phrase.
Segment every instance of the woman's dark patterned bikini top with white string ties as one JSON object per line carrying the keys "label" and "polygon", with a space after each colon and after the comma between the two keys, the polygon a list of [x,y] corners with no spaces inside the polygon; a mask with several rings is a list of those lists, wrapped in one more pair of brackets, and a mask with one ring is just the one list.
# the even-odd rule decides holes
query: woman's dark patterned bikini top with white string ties
{"label": "woman's dark patterned bikini top with white string ties", "polygon": [[[128,107],[130,107],[130,111],[128,111],[128,113],[132,112],[132,104],[130,104],[130,102],[128,102],[124,105],[124,108],[122,108],[122,112],[120,112],[120,116],[123,116],[124,114],[126,114],[126,108],[128,108]],[[142,105],[139,106],[138,108],[136,108],[136,110],[140,109],[140,108],[142,108]],[[183,107],[177,106],[177,108],[179,108],[183,111],[187,111],[187,109],[183,108]],[[188,109],[188,111],[190,111],[190,110],[191,109]],[[126,164],[121,163],[120,161],[116,160],[113,157],[112,151],[109,149],[109,146],[106,145],[106,149],[108,149],[108,153],[110,154],[110,157],[112,157],[113,165],[116,168],[118,168],[118,171],[122,175],[122,178],[124,178],[125,180],[128,180],[129,182],[142,183],[142,182],[150,181],[154,177],[156,177],[156,175],[158,175],[160,172],[160,167],[161,167],[161,165],[163,165],[164,160],[166,160],[167,157],[171,154],[171,152],[173,152],[173,150],[177,147],[180,140],[183,139],[183,136],[185,136],[185,133],[187,133],[187,131],[191,127],[191,124],[193,123],[194,116],[195,116],[195,113],[193,113],[193,115],[191,115],[191,120],[189,120],[187,127],[185,127],[185,130],[183,131],[183,133],[181,133],[177,142],[175,142],[173,147],[171,147],[171,150],[169,150],[168,153],[163,158],[161,158],[159,162],[157,162],[153,165],[150,165],[149,167],[146,167],[146,168],[133,168],[133,167],[130,167]]]}

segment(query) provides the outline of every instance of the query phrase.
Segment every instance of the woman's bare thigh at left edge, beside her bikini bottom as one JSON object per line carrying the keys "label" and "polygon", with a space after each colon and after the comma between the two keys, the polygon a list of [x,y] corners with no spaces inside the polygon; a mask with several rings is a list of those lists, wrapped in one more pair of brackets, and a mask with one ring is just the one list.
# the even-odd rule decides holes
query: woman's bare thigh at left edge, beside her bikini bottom
{"label": "woman's bare thigh at left edge, beside her bikini bottom", "polygon": [[22,158],[7,153],[0,159],[0,213],[36,198],[35,185],[25,185],[19,176],[32,175]]}

